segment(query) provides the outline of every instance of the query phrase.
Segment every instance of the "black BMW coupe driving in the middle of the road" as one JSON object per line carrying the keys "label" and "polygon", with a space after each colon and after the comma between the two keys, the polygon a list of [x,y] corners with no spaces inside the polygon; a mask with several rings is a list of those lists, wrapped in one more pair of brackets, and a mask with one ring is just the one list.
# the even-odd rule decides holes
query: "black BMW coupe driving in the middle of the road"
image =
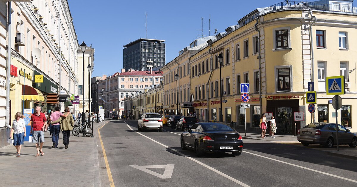
{"label": "black BMW coupe driving in the middle of the road", "polygon": [[204,152],[232,152],[240,155],[243,150],[242,136],[230,126],[216,122],[201,122],[181,134],[181,149],[195,150],[196,156]]}

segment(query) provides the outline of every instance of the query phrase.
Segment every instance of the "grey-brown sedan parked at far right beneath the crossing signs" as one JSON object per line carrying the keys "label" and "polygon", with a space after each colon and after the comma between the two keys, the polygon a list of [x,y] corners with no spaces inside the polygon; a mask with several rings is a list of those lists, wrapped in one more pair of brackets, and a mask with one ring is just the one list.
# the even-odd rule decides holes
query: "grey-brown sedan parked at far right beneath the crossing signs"
{"label": "grey-brown sedan parked at far right beneath the crossing signs", "polygon": [[[331,148],[336,145],[335,123],[310,123],[297,131],[297,141],[303,146],[320,144]],[[348,144],[350,147],[357,146],[357,136],[349,129],[338,124],[338,145]]]}

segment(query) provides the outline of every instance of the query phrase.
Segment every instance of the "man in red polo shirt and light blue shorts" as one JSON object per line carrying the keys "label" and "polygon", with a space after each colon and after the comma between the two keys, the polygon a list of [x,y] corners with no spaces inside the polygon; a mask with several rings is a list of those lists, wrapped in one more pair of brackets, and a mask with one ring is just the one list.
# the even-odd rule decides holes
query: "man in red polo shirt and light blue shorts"
{"label": "man in red polo shirt and light blue shorts", "polygon": [[40,106],[35,107],[35,113],[31,115],[30,123],[30,134],[32,134],[32,138],[36,143],[37,154],[35,156],[39,156],[40,154],[44,156],[42,146],[45,142],[44,131],[47,129],[47,120],[45,114],[41,112]]}

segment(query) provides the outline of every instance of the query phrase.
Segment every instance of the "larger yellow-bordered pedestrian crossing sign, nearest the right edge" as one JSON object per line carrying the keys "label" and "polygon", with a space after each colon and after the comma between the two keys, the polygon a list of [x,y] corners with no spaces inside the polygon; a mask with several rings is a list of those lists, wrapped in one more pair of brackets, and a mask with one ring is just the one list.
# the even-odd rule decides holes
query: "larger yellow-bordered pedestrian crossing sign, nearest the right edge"
{"label": "larger yellow-bordered pedestrian crossing sign, nearest the right edge", "polygon": [[345,94],[345,76],[326,77],[326,94],[327,95]]}

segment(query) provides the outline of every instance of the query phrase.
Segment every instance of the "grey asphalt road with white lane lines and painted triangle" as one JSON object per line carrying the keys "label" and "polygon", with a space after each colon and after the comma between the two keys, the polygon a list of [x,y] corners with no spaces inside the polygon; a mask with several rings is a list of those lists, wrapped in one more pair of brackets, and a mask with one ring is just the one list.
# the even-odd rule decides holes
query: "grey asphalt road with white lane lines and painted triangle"
{"label": "grey asphalt road with white lane lines and painted triangle", "polygon": [[[182,132],[137,131],[136,121],[100,129],[115,186],[357,186],[357,161],[324,151],[243,139],[243,153],[196,157],[181,150]],[[99,155],[101,156],[101,154]],[[101,179],[105,180],[105,179]],[[107,180],[107,179],[106,179]]]}

